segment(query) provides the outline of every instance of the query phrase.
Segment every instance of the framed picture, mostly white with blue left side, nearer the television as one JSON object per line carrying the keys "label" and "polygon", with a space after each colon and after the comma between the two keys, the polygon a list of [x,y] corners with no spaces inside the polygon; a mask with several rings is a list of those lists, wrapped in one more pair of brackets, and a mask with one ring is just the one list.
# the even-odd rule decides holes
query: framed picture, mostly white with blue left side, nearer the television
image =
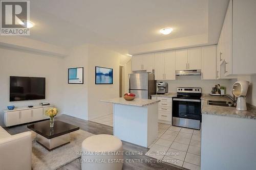
{"label": "framed picture, mostly white with blue left side, nearer the television", "polygon": [[83,84],[83,67],[69,68],[69,84]]}

